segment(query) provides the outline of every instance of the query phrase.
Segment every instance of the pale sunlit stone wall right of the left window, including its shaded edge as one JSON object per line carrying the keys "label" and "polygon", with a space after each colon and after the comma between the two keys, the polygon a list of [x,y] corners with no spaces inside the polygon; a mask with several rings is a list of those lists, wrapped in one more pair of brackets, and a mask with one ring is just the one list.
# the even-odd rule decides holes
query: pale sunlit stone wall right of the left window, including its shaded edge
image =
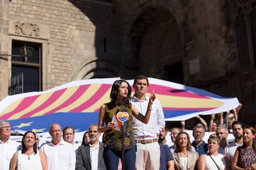
{"label": "pale sunlit stone wall right of the left window, including its shaded edge", "polygon": [[[109,2],[11,1],[9,33],[13,39],[43,41],[45,90],[77,79],[75,73],[88,61],[119,58],[114,15],[113,5]],[[17,21],[36,24],[40,35],[18,34],[12,24]],[[83,74],[87,71],[90,69]]]}

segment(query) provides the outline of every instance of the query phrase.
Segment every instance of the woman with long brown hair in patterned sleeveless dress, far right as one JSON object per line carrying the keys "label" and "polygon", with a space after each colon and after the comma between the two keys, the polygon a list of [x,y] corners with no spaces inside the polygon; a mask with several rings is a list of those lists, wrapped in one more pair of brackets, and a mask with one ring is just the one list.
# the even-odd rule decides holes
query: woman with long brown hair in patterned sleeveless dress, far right
{"label": "woman with long brown hair in patterned sleeveless dress, far right", "polygon": [[233,169],[256,169],[256,132],[254,127],[245,126],[244,144],[236,149],[233,160]]}

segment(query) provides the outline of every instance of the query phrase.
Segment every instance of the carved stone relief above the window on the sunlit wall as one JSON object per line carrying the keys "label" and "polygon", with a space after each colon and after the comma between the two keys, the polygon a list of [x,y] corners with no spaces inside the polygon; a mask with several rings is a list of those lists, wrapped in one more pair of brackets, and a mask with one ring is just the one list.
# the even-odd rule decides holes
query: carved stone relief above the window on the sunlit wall
{"label": "carved stone relief above the window on the sunlit wall", "polygon": [[38,25],[34,23],[28,22],[15,22],[15,33],[16,34],[23,34],[26,36],[40,36],[40,28]]}

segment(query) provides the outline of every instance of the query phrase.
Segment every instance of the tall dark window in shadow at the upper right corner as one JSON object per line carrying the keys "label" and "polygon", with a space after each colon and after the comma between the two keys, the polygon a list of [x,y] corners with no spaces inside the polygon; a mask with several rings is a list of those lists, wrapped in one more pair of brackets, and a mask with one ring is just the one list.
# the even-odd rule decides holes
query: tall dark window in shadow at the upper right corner
{"label": "tall dark window in shadow at the upper right corner", "polygon": [[246,71],[256,67],[256,2],[233,1],[232,4],[239,69]]}

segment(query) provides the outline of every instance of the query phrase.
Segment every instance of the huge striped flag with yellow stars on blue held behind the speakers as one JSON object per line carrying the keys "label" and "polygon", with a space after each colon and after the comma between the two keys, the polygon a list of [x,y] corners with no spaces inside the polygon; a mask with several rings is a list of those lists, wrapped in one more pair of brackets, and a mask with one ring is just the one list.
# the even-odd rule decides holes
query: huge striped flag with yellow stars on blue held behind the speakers
{"label": "huge striped flag with yellow stars on blue held behind the speakers", "polygon": [[[48,91],[9,95],[0,102],[0,119],[7,119],[12,130],[47,132],[49,125],[72,126],[76,132],[87,131],[98,123],[98,111],[110,101],[116,78],[72,81]],[[127,80],[132,86],[133,79]],[[211,115],[236,108],[237,98],[221,97],[182,84],[148,78],[148,94],[155,89],[166,121],[181,121],[195,115]],[[134,89],[132,89],[134,91]],[[133,94],[133,92],[132,92]]]}

